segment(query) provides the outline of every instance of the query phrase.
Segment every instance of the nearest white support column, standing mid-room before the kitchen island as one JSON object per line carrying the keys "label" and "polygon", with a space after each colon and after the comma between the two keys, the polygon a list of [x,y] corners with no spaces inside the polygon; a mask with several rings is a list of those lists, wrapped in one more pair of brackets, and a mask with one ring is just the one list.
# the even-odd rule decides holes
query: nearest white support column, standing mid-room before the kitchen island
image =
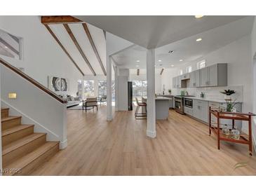
{"label": "nearest white support column, standing mid-room before the kitchen island", "polygon": [[147,50],[147,136],[156,137],[155,50]]}

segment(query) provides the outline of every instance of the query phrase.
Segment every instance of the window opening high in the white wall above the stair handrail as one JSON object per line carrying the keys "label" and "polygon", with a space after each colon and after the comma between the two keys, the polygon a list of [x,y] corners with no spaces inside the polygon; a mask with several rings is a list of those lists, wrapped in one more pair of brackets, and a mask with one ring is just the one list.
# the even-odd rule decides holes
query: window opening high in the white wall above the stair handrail
{"label": "window opening high in the white wall above the stair handrail", "polygon": [[0,29],[0,55],[21,60],[21,39]]}

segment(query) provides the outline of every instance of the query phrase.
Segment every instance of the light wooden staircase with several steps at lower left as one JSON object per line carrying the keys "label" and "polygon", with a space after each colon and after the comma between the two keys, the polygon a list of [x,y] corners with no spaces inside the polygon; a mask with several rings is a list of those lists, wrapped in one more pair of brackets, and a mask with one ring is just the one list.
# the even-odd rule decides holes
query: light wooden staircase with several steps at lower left
{"label": "light wooden staircase with several steps at lower left", "polygon": [[4,175],[29,175],[59,151],[59,142],[46,142],[46,133],[35,133],[34,125],[22,125],[21,118],[1,109]]}

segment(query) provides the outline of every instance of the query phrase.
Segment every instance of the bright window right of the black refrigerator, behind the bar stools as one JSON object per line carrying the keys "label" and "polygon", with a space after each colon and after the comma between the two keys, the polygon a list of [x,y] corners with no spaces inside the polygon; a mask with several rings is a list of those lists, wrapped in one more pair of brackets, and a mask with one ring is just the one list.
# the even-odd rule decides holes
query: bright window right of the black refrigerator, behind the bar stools
{"label": "bright window right of the black refrigerator, behind the bar stools", "polygon": [[135,97],[141,100],[141,97],[147,95],[147,81],[133,81],[133,101]]}

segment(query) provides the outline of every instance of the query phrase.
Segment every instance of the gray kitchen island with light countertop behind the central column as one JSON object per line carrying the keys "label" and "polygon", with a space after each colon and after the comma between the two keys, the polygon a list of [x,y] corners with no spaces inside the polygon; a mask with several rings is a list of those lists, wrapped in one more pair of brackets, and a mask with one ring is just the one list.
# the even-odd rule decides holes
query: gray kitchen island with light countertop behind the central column
{"label": "gray kitchen island with light countertop behind the central column", "polygon": [[[169,102],[173,98],[168,97],[156,97],[156,119],[167,119],[169,116]],[[147,97],[142,97],[142,102],[147,103]],[[145,109],[142,109],[142,113],[145,113]]]}

